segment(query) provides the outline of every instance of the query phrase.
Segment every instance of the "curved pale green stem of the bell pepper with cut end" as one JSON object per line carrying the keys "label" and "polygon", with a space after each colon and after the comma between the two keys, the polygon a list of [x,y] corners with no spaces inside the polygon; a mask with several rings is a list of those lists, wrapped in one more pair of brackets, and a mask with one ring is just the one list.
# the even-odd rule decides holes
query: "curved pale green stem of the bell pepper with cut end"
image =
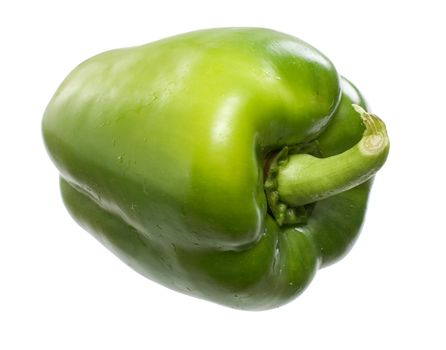
{"label": "curved pale green stem of the bell pepper with cut end", "polygon": [[284,154],[287,151],[277,156],[265,189],[279,225],[297,223],[289,213],[301,212],[310,203],[369,180],[386,161],[389,139],[384,122],[358,105],[353,105],[353,108],[361,116],[366,129],[352,148],[328,158],[302,153]]}

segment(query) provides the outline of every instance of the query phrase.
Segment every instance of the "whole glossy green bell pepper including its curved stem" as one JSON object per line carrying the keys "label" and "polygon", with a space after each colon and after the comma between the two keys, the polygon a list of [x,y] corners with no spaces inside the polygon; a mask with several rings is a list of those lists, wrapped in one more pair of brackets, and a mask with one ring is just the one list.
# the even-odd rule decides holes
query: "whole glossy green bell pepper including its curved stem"
{"label": "whole glossy green bell pepper including its curved stem", "polygon": [[359,106],[305,42],[210,29],[83,62],[43,136],[69,212],[125,263],[262,310],[294,299],[358,236],[389,149]]}

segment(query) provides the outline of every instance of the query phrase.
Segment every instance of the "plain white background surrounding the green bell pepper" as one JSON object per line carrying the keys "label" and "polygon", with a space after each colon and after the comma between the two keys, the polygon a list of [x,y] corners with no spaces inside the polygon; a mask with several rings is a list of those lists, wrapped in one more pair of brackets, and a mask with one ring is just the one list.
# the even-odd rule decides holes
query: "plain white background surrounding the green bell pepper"
{"label": "plain white background surrounding the green bell pepper", "polygon": [[[442,1],[4,1],[1,349],[445,349]],[[42,113],[104,50],[260,26],[324,52],[387,123],[391,153],[351,253],[281,308],[243,312],[130,270],[65,211]]]}

